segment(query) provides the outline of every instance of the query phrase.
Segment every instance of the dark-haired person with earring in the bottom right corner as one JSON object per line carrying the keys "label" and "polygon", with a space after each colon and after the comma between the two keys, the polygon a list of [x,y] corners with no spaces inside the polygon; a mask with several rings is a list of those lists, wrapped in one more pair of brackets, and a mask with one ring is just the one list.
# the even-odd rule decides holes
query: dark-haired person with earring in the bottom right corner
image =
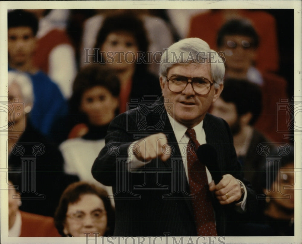
{"label": "dark-haired person with earring in the bottom right corner", "polygon": [[271,227],[271,236],[294,236],[294,149],[281,161],[269,161],[262,174],[266,206],[263,221]]}

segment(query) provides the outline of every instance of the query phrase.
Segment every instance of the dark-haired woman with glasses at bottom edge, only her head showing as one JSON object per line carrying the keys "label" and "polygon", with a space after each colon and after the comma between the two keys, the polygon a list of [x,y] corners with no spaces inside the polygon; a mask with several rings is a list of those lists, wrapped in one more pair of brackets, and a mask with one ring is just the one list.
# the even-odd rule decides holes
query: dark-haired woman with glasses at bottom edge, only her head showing
{"label": "dark-haired woman with glasses at bottom edge, only her head showing", "polygon": [[115,213],[106,190],[79,181],[64,190],[54,220],[62,236],[111,236]]}

